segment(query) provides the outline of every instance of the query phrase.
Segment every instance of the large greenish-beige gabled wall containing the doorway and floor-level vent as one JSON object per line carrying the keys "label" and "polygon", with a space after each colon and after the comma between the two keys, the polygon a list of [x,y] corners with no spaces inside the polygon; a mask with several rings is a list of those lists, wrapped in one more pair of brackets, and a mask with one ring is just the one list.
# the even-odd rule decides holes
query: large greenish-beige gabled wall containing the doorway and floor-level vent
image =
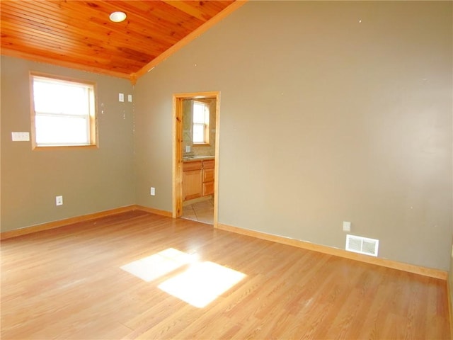
{"label": "large greenish-beige gabled wall containing the doorway and floor-level vent", "polygon": [[451,1],[250,1],[137,82],[137,203],[172,208],[172,95],[221,91],[219,222],[448,270],[452,57]]}

